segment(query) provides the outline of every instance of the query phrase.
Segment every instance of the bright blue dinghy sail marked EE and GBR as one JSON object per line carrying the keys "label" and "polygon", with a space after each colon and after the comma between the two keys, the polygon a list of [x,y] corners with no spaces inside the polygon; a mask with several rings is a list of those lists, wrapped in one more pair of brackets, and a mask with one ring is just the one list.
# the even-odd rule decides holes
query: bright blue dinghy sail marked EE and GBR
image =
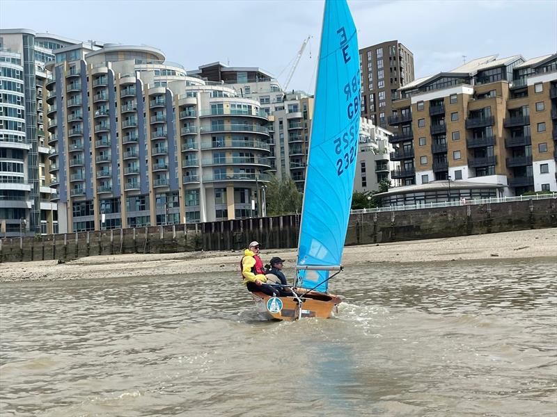
{"label": "bright blue dinghy sail marked EE and GBR", "polygon": [[327,292],[329,270],[318,268],[340,265],[356,172],[360,95],[350,9],[345,0],[325,1],[298,243],[301,288]]}

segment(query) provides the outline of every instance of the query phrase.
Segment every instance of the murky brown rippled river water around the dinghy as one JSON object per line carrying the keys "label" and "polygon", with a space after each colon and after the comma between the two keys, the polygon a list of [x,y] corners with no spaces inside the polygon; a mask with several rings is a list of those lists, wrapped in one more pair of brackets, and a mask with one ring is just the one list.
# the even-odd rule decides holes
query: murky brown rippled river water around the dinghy
{"label": "murky brown rippled river water around the dinghy", "polygon": [[554,417],[556,270],[370,263],[291,323],[223,274],[4,283],[0,415]]}

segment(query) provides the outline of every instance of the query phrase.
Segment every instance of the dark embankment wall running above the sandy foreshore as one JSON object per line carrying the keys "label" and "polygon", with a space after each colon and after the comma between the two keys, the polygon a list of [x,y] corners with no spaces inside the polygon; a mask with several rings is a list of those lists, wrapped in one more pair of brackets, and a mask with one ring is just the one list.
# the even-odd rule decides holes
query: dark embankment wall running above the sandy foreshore
{"label": "dark embankment wall running above the sandy foreshore", "polygon": [[[0,262],[68,260],[126,253],[240,250],[251,240],[258,240],[265,248],[289,248],[297,246],[299,222],[299,215],[285,215],[85,231],[36,238],[5,238],[0,240]],[[346,245],[547,227],[557,227],[557,199],[360,213],[350,217]]]}

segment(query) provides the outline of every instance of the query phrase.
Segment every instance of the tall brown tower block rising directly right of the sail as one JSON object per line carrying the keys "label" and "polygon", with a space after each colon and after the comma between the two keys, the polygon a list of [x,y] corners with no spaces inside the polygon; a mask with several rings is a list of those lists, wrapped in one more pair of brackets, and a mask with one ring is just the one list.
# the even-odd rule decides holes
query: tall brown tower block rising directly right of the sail
{"label": "tall brown tower block rising directly right of the sail", "polygon": [[388,128],[398,89],[414,81],[414,55],[398,40],[391,40],[360,49],[360,65],[361,117]]}

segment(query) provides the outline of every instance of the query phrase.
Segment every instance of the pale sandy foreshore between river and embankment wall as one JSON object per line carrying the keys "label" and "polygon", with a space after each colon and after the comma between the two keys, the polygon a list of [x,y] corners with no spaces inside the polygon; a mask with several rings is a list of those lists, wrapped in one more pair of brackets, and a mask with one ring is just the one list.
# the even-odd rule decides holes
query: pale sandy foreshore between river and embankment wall
{"label": "pale sandy foreshore between river and embankment wall", "polygon": [[[90,256],[68,263],[33,261],[0,264],[0,282],[87,279],[237,272],[242,252],[182,252],[178,254],[124,254]],[[292,275],[297,250],[265,250],[262,260],[281,256]],[[345,247],[343,265],[365,263],[419,263],[474,259],[547,258],[557,261],[557,229],[510,231],[404,243]]]}

